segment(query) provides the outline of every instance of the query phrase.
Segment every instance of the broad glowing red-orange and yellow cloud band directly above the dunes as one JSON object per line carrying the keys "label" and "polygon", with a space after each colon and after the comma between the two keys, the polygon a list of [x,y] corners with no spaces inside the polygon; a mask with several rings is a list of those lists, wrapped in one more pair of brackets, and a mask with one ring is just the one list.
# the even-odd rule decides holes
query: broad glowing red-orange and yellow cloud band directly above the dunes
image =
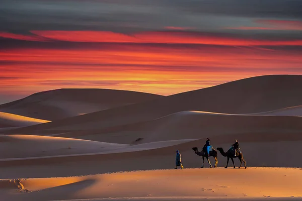
{"label": "broad glowing red-orange and yellow cloud band directly above the dunes", "polygon": [[114,88],[172,94],[262,74],[300,74],[299,52],[253,47],[106,45],[103,49],[0,52],[10,91]]}

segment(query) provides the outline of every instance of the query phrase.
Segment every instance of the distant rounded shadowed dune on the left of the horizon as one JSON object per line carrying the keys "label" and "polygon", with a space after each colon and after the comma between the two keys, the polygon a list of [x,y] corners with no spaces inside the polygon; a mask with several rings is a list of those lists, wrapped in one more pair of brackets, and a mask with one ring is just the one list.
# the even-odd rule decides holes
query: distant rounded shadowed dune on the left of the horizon
{"label": "distant rounded shadowed dune on the left of the horizon", "polygon": [[57,89],[0,105],[0,111],[56,120],[144,102],[161,95],[110,89]]}

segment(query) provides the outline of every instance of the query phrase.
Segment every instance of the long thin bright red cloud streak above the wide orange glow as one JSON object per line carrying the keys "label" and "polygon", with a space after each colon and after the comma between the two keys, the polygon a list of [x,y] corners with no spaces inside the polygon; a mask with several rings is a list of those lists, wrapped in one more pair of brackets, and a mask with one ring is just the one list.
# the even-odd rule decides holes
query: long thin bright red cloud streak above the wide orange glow
{"label": "long thin bright red cloud streak above the wide orange glow", "polygon": [[253,40],[231,37],[202,36],[192,32],[139,32],[132,35],[106,31],[32,31],[32,33],[53,40],[73,42],[210,44],[231,46],[302,45],[302,40]]}

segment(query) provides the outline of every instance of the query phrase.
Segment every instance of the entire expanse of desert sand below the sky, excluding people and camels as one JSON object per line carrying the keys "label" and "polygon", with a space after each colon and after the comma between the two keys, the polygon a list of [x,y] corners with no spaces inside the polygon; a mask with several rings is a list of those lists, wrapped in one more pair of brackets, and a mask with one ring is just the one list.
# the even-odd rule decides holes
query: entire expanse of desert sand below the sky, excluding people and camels
{"label": "entire expanse of desert sand below the sky, excluding people and camels", "polygon": [[[301,86],[273,75],[167,97],[60,89],[2,105],[1,200],[302,200]],[[192,147],[206,137],[224,151],[238,139],[247,169],[223,168],[219,152],[218,168],[200,168]]]}

